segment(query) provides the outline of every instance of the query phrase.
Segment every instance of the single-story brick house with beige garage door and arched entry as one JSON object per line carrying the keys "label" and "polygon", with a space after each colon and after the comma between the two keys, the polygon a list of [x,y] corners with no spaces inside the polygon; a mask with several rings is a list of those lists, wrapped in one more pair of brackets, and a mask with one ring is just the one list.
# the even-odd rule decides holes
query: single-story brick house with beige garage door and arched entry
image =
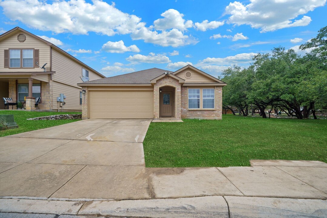
{"label": "single-story brick house with beige garage door and arched entry", "polygon": [[191,65],[79,83],[82,118],[221,119],[226,83]]}

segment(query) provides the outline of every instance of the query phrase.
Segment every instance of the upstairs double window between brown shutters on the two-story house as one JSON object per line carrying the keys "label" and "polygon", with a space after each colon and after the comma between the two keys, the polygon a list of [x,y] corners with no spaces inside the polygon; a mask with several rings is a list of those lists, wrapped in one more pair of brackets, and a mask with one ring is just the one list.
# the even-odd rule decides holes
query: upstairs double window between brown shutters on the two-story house
{"label": "upstairs double window between brown shutters on the two-story house", "polygon": [[9,67],[34,67],[33,49],[9,49]]}

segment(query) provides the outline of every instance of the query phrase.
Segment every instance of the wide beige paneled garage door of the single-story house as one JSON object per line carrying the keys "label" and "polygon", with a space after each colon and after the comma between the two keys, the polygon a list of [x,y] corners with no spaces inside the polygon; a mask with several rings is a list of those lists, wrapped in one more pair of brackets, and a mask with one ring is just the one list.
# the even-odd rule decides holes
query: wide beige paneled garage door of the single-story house
{"label": "wide beige paneled garage door of the single-story house", "polygon": [[153,91],[89,91],[90,118],[153,118]]}

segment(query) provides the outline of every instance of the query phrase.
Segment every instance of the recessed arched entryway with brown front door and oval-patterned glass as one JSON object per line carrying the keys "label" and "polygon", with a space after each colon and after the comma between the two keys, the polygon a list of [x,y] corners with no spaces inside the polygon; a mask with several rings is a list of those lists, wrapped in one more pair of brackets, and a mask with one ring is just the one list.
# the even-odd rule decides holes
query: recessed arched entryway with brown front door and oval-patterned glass
{"label": "recessed arched entryway with brown front door and oval-patterned glass", "polygon": [[159,89],[159,117],[175,117],[175,87]]}

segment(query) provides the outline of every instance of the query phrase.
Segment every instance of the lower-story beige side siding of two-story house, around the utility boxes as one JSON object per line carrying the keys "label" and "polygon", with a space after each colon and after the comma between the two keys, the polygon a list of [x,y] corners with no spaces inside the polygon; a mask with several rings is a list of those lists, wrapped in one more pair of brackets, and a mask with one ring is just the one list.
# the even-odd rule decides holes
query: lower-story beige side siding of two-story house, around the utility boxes
{"label": "lower-story beige side siding of two-story house, around the utility boxes", "polygon": [[[81,110],[82,106],[79,104],[79,92],[81,88],[69,86],[63,83],[52,83],[52,109],[58,109],[57,97],[60,93],[66,95],[66,104],[63,109],[66,110]],[[61,108],[60,108],[61,109]]]}

